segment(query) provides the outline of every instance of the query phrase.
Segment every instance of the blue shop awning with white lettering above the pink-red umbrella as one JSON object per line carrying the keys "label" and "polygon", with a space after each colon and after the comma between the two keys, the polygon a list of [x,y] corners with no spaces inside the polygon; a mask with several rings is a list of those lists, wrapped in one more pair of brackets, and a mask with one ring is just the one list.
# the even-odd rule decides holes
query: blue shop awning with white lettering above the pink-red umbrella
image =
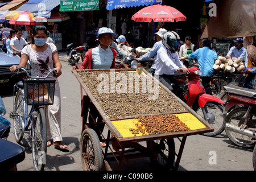
{"label": "blue shop awning with white lettering above the pink-red umbrella", "polygon": [[124,7],[133,7],[133,6],[149,6],[149,5],[155,5],[155,4],[162,4],[162,0],[151,0],[151,1],[145,1],[145,0],[108,0],[108,4],[106,9],[107,10],[113,10],[113,9],[119,9]]}

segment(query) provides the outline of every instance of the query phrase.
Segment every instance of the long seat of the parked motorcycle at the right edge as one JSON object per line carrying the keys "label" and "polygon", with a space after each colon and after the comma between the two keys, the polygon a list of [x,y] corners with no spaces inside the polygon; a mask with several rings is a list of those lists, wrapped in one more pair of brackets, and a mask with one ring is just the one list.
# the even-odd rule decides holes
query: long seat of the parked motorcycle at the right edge
{"label": "long seat of the parked motorcycle at the right edge", "polygon": [[234,85],[226,85],[224,86],[224,88],[227,93],[239,94],[242,96],[256,98],[256,90],[253,90],[253,89],[242,88],[240,86],[234,86]]}

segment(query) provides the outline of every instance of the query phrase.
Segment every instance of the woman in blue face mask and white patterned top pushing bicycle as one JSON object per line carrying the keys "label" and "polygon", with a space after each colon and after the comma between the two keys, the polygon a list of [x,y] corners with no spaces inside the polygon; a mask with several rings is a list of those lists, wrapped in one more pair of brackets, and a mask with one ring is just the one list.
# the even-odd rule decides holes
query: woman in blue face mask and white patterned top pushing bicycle
{"label": "woman in blue face mask and white patterned top pushing bicycle", "polygon": [[[68,146],[62,144],[63,139],[60,134],[60,86],[57,77],[62,73],[61,63],[56,46],[53,43],[46,43],[46,41],[47,28],[43,25],[34,26],[32,29],[32,44],[22,49],[19,65],[10,67],[10,71],[16,72],[18,67],[26,67],[28,60],[32,69],[36,70],[53,69],[53,65],[55,65],[56,76],[47,78],[48,80],[56,80],[54,103],[46,107],[47,146],[51,146],[52,139],[55,148],[63,150]],[[32,76],[46,76],[47,74],[48,72],[32,73]]]}

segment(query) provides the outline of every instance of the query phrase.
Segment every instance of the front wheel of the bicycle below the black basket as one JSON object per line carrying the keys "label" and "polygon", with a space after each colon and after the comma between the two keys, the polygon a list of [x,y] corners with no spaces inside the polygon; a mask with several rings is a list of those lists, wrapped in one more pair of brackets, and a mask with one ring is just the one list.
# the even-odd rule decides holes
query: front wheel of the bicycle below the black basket
{"label": "front wheel of the bicycle below the black basket", "polygon": [[39,107],[36,112],[38,116],[33,118],[34,121],[31,128],[32,158],[36,171],[43,171],[46,165],[47,148],[46,115],[42,107]]}

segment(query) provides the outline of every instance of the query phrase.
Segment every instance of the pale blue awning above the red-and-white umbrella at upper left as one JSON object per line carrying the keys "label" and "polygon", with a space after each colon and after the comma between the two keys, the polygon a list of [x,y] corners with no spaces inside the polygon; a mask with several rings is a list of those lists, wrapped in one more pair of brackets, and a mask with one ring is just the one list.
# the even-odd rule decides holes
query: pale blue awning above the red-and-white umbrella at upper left
{"label": "pale blue awning above the red-and-white umbrella at upper left", "polygon": [[34,16],[44,16],[50,18],[51,10],[60,5],[60,1],[56,0],[30,0],[17,10],[30,11]]}

